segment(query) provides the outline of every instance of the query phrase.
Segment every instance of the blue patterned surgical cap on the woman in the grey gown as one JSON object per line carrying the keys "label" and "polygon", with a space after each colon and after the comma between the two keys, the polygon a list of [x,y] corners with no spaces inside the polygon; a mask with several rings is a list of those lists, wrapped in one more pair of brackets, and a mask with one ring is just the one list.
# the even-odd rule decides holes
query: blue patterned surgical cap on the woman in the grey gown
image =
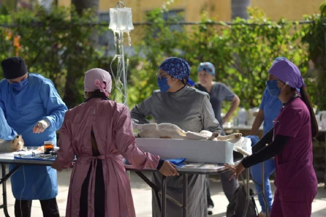
{"label": "blue patterned surgical cap on the woman in the grey gown", "polygon": [[164,60],[161,65],[158,67],[168,73],[170,76],[177,78],[179,80],[186,79],[187,83],[191,86],[194,86],[195,83],[190,77],[190,66],[186,60],[178,57],[170,57]]}

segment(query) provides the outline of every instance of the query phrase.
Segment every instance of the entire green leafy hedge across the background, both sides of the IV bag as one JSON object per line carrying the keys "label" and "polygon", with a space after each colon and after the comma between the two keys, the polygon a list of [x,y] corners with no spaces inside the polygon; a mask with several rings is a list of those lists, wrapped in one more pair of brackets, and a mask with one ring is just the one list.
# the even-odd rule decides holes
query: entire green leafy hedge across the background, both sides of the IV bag
{"label": "entire green leafy hedge across the background, both sides of the IV bag", "polygon": [[[132,108],[157,89],[157,68],[169,56],[184,58],[191,65],[191,76],[197,80],[197,67],[210,61],[216,68],[216,80],[226,83],[241,99],[245,108],[259,106],[265,89],[267,71],[274,59],[285,56],[300,69],[314,104],[326,109],[326,4],[321,14],[306,16],[312,22],[304,25],[280,19],[271,21],[258,8],[249,8],[250,19],[235,19],[231,24],[216,25],[206,12],[199,25],[169,23],[183,20],[183,14],[170,17],[164,13],[165,4],[146,14],[152,25],[142,26],[142,36],[130,58],[128,67],[128,105]],[[110,69],[112,57],[103,54],[104,48],[94,47],[92,34],[107,30],[94,25],[91,11],[78,14],[74,8],[53,7],[50,11],[36,6],[32,11],[18,10],[0,14],[0,59],[20,55],[29,71],[50,78],[68,107],[83,102],[84,72],[91,68]],[[315,70],[308,68],[312,60]],[[2,73],[0,73],[0,78]],[[113,95],[118,95],[113,89]],[[227,108],[227,106],[225,106]]]}

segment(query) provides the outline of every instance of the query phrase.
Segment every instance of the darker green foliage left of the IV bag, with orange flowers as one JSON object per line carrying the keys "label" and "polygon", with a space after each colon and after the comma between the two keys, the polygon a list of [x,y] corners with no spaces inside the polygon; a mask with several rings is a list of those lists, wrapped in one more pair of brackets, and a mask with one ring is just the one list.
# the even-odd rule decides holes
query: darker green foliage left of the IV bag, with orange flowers
{"label": "darker green foliage left of the IV bag, with orange flowers", "polygon": [[84,100],[84,72],[109,61],[89,41],[94,21],[90,10],[78,15],[74,8],[64,7],[46,11],[36,6],[33,11],[1,15],[0,23],[10,27],[0,28],[0,58],[22,56],[30,72],[53,81],[71,108]]}

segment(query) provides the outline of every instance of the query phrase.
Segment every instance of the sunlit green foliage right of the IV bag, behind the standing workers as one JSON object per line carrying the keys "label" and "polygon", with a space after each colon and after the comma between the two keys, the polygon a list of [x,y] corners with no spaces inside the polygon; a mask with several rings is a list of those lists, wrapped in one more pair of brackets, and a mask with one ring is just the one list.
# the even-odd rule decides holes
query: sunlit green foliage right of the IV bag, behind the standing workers
{"label": "sunlit green foliage right of the IV bag, behind the standing workers", "polygon": [[[285,19],[273,22],[258,8],[249,8],[249,20],[237,18],[232,25],[223,22],[216,25],[204,12],[200,25],[187,29],[181,27],[178,32],[172,32],[162,19],[165,10],[156,9],[147,15],[147,21],[154,24],[147,27],[148,34],[141,50],[149,64],[143,60],[143,65],[148,68],[137,72],[138,78],[146,82],[139,87],[139,95],[132,91],[140,98],[144,96],[144,88],[156,88],[151,75],[160,61],[169,56],[186,59],[191,65],[193,80],[197,78],[199,63],[213,63],[216,80],[230,86],[240,97],[240,106],[247,109],[259,106],[267,71],[276,57],[287,57],[301,67],[303,75],[306,74],[307,52],[300,43],[298,24],[293,25]],[[149,94],[146,92],[145,95]]]}

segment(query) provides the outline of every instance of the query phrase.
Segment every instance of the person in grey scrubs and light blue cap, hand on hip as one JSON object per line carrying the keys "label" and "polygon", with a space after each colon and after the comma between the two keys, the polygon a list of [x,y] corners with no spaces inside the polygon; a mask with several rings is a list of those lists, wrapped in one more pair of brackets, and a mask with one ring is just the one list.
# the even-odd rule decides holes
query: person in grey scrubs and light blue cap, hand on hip
{"label": "person in grey scrubs and light blue cap, hand on hip", "polygon": [[[207,92],[209,94],[209,101],[214,110],[215,118],[219,120],[221,123],[221,127],[226,123],[230,117],[232,117],[234,111],[240,104],[239,97],[234,94],[234,92],[227,87],[225,84],[221,82],[214,82],[213,79],[215,77],[215,67],[213,64],[209,62],[201,63],[198,67],[198,79],[199,83],[195,85],[195,87],[203,92]],[[222,103],[223,101],[231,102],[231,107],[226,115],[222,118]],[[222,136],[225,135],[225,132],[222,131]],[[223,191],[230,201],[236,189],[239,187],[238,181],[233,178],[229,181],[231,171],[227,171],[225,173],[221,173],[221,182]],[[210,197],[209,190],[209,176],[206,175],[206,188],[207,188],[207,211],[208,214],[213,214],[214,203]]]}

